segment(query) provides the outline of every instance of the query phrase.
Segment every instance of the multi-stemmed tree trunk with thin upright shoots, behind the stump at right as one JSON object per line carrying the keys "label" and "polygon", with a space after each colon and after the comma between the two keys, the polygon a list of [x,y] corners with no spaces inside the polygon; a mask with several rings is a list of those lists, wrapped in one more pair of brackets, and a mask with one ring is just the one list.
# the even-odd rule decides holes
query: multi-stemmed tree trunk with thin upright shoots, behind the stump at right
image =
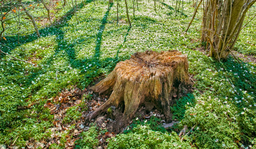
{"label": "multi-stemmed tree trunk with thin upright shoots, behind the stump at right", "polygon": [[201,41],[210,48],[210,56],[220,60],[233,49],[243,27],[246,12],[256,0],[206,0]]}

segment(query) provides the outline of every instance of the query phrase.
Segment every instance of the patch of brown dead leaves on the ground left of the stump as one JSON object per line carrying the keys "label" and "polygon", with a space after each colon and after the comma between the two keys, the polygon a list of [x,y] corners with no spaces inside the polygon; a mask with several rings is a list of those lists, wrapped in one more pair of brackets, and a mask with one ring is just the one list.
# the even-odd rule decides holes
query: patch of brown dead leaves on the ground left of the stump
{"label": "patch of brown dead leaves on the ground left of the stump", "polygon": [[[51,114],[54,115],[54,126],[49,129],[51,136],[46,140],[42,140],[41,142],[36,142],[35,140],[30,139],[26,143],[28,149],[33,149],[36,147],[48,148],[53,143],[60,144],[61,137],[63,137],[64,134],[67,134],[64,135],[67,139],[65,148],[74,148],[74,142],[79,139],[78,135],[82,131],[88,129],[87,127],[83,126],[84,117],[81,117],[81,119],[78,121],[72,121],[68,124],[64,123],[63,119],[69,107],[77,106],[81,103],[82,96],[85,92],[86,89],[80,90],[77,87],[71,87],[63,90],[59,96],[48,99],[44,107],[49,108]],[[78,110],[81,109],[79,108]],[[75,125],[75,127],[71,129],[72,125]],[[73,137],[71,137],[71,135]]]}

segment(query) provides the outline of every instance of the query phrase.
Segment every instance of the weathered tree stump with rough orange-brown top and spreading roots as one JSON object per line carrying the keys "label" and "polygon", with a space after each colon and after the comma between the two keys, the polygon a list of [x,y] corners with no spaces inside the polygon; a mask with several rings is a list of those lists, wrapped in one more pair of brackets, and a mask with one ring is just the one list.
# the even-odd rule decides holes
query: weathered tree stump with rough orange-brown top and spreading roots
{"label": "weathered tree stump with rough orange-brown top and spreading roots", "polygon": [[136,52],[130,60],[119,62],[105,79],[90,88],[99,94],[112,94],[89,118],[94,119],[110,106],[115,106],[122,108],[122,118],[118,122],[122,125],[135,116],[140,106],[145,106],[163,112],[166,121],[170,122],[172,99],[188,84],[187,55],[176,50]]}

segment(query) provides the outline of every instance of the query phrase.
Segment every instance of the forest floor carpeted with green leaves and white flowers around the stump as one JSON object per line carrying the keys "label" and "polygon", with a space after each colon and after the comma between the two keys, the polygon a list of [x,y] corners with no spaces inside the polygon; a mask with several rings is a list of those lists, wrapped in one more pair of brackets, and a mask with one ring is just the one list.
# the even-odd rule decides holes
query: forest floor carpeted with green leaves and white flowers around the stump
{"label": "forest floor carpeted with green leaves and white flowers around the stump", "polygon": [[[81,0],[78,0],[81,2]],[[129,1],[129,28],[124,2],[90,0],[73,11],[56,13],[54,25],[36,33],[7,36],[0,48],[34,65],[1,55],[0,146],[8,148],[255,148],[256,144],[256,19],[244,28],[235,46],[238,62],[229,56],[218,62],[200,43],[201,11],[192,18],[191,2],[174,11],[172,1],[138,1],[135,16]],[[61,7],[59,5],[58,7]],[[256,8],[252,7],[254,14]],[[54,13],[54,12],[52,12]],[[177,16],[175,17],[175,14]],[[40,15],[40,14],[39,14]],[[77,18],[77,19],[76,19]],[[247,18],[246,18],[247,20]],[[174,126],[162,127],[163,115],[149,112],[134,119],[124,132],[108,132],[111,119],[97,124],[86,115],[104,103],[88,90],[108,75],[116,63],[134,52],[179,50],[187,54],[194,92],[171,108]],[[177,123],[176,123],[177,122]],[[190,133],[181,137],[185,129]],[[108,145],[108,146],[107,146]]]}

